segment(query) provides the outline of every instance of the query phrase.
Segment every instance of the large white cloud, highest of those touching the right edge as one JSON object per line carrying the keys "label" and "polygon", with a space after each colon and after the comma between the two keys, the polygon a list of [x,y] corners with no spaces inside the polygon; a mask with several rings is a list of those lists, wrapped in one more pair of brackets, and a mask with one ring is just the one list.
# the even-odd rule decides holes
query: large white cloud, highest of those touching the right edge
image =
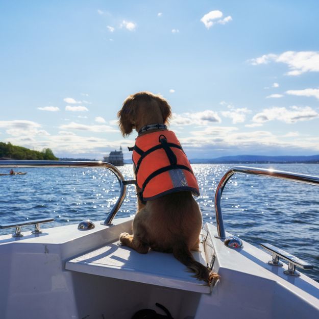
{"label": "large white cloud, highest of those touching the right edge", "polygon": [[266,54],[256,59],[251,59],[253,65],[267,64],[271,61],[285,63],[290,71],[288,76],[298,76],[305,72],[319,72],[319,52],[316,51],[286,51],[280,55]]}

